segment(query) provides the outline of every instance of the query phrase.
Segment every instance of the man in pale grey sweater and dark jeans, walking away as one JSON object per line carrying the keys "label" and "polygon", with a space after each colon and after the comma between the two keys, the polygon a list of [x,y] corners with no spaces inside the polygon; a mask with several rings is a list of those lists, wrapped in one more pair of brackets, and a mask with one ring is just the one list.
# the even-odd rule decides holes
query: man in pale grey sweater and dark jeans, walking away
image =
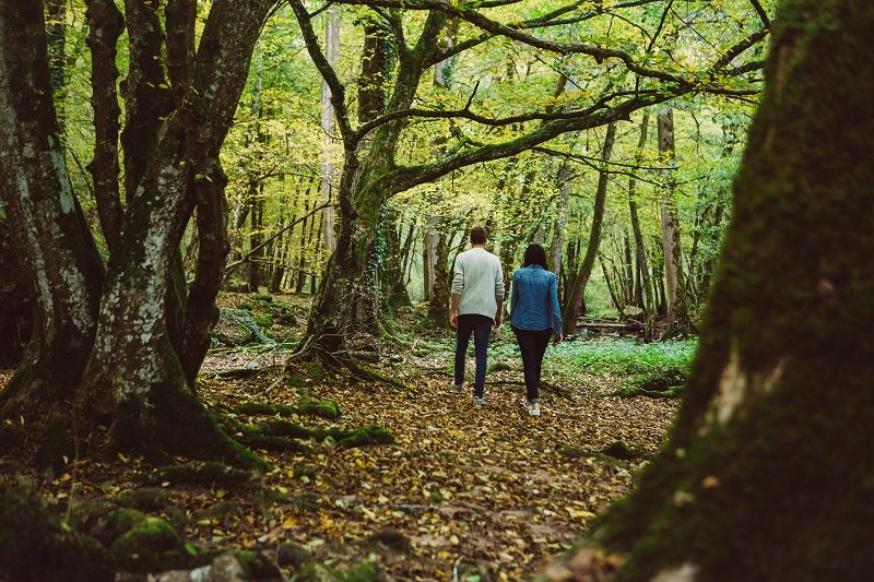
{"label": "man in pale grey sweater and dark jeans, walking away", "polygon": [[488,335],[493,325],[500,326],[504,304],[504,272],[497,257],[485,250],[486,229],[471,229],[471,249],[456,258],[452,273],[452,307],[449,323],[456,329],[456,375],[452,388],[461,392],[464,383],[464,356],[471,333],[476,356],[476,376],[473,384],[473,404],[485,406],[485,365]]}

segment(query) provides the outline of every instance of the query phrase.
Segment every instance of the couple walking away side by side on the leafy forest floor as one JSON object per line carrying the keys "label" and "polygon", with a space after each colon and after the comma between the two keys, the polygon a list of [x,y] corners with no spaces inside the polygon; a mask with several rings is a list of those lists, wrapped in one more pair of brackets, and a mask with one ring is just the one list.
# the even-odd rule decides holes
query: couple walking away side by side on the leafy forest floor
{"label": "couple walking away side by side on the leafy forest floor", "polygon": [[[485,250],[486,229],[471,229],[471,249],[456,259],[452,273],[452,305],[449,323],[456,329],[456,373],[452,388],[462,390],[464,356],[471,334],[476,356],[473,403],[485,406],[484,385],[488,336],[504,319],[504,271],[497,257]],[[522,353],[528,414],[540,416],[538,389],[541,364],[550,336],[562,341],[562,316],[558,310],[558,283],[555,273],[546,268],[546,251],[540,245],[529,245],[522,268],[512,274],[510,328]]]}

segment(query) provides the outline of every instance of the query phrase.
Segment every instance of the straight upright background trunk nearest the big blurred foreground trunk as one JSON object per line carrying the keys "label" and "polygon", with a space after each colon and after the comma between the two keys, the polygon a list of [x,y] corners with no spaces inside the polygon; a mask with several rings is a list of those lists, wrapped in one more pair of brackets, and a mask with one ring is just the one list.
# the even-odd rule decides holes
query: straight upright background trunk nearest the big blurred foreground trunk
{"label": "straight upright background trunk nearest the big blurred foreground trunk", "polygon": [[[674,164],[674,110],[659,109],[659,154],[662,162]],[[662,190],[662,252],[664,253],[664,284],[668,299],[668,321],[664,337],[692,331],[686,285],[683,278],[683,250],[680,244],[680,215],[676,207],[676,180],[674,170],[665,170]]]}

